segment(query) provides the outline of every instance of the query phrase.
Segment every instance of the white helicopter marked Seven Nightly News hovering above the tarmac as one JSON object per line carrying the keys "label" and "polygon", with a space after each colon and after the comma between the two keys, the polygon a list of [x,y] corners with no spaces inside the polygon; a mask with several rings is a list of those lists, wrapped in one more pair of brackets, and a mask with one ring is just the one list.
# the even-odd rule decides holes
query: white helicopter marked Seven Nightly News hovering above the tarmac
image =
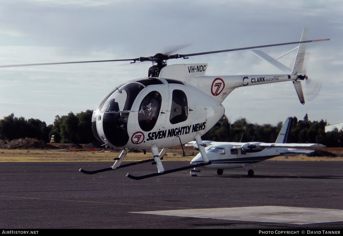
{"label": "white helicopter marked Seven Nightly News hovering above the tarmac", "polygon": [[[301,75],[305,56],[306,43],[325,41],[307,40],[308,29],[305,29],[298,42],[280,43],[244,48],[234,48],[193,54],[166,55],[158,53],[150,57],[102,61],[152,61],[148,76],[126,82],[112,91],[97,104],[92,116],[92,128],[95,137],[104,145],[120,148],[122,152],[115,158],[113,166],[105,169],[81,172],[94,174],[115,170],[131,165],[153,161],[158,172],[145,176],[132,176],[131,179],[144,179],[167,173],[191,169],[187,166],[172,170],[164,170],[161,159],[169,147],[186,144],[195,140],[199,146],[204,163],[197,166],[210,165],[204,150],[201,136],[209,131],[224,115],[223,100],[238,87],[260,85],[266,83],[293,81],[300,96],[302,89],[300,80],[307,78]],[[166,60],[188,58],[190,56],[232,52],[280,45],[299,44],[298,54],[292,73],[287,75],[241,75],[241,76],[205,76],[208,64],[176,64],[167,65]],[[73,61],[61,63],[40,63],[9,65],[33,66],[70,63],[91,63],[102,61]],[[300,90],[299,90],[300,88]],[[304,99],[300,99],[304,103]],[[161,149],[159,152],[158,149]],[[128,150],[151,150],[153,159],[121,165]]]}

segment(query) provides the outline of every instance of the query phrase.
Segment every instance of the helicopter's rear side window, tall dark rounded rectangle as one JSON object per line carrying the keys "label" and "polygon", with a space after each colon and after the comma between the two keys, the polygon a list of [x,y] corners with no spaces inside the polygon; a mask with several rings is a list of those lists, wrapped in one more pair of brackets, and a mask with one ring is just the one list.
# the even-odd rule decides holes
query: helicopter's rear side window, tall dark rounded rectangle
{"label": "helicopter's rear side window, tall dark rounded rectangle", "polygon": [[188,101],[187,96],[182,90],[175,89],[173,91],[173,99],[170,110],[170,123],[177,124],[186,121],[188,117]]}

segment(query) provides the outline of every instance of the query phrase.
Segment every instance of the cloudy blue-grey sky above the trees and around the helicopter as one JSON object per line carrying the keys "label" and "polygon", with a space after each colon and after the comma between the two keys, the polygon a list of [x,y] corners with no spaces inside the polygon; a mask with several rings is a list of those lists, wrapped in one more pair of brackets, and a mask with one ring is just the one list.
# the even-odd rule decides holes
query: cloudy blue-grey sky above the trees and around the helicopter
{"label": "cloudy blue-grey sky above the trees and around the helicopter", "polygon": [[[152,56],[299,41],[307,45],[305,105],[291,82],[244,87],[224,101],[231,121],[276,125],[288,116],[343,123],[341,0],[2,0],[0,65]],[[296,46],[296,45],[295,45]],[[262,49],[278,57],[295,46]],[[281,59],[290,66],[295,53]],[[249,50],[195,56],[207,75],[282,74]],[[14,113],[52,124],[56,115],[94,109],[115,86],[145,77],[151,63],[109,62],[0,68],[0,118]],[[315,89],[322,83],[320,93]],[[311,100],[311,101],[310,101]]]}

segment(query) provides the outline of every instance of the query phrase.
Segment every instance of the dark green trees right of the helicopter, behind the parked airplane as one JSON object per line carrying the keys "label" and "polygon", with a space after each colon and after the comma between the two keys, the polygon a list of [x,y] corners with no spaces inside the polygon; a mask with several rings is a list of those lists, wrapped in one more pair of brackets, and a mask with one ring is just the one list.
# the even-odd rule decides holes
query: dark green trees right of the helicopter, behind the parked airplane
{"label": "dark green trees right of the helicopter, behind the parked airplane", "polygon": [[[342,147],[343,130],[336,128],[325,132],[327,121],[310,121],[307,114],[303,120],[298,120],[296,116],[289,118],[292,118],[292,123],[287,143],[320,143],[327,147]],[[274,143],[282,125],[282,122],[276,126],[251,124],[245,118],[230,123],[224,115],[209,132],[202,136],[202,139],[221,142]]]}

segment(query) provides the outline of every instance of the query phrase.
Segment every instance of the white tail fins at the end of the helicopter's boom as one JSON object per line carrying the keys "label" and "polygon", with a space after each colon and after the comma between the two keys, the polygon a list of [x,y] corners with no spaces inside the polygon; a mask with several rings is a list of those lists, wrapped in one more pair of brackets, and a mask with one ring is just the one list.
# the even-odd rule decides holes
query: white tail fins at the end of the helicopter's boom
{"label": "white tail fins at the end of the helicopter's boom", "polygon": [[[308,31],[309,31],[308,28],[304,28],[300,41],[307,41]],[[277,59],[287,55],[288,53],[292,52],[295,49],[298,49],[298,52],[297,52],[297,56],[295,59],[293,70],[292,70],[288,68],[287,66],[285,66],[284,64],[282,64]],[[267,61],[268,63],[270,63],[277,69],[281,70],[285,74],[301,74],[303,72],[305,51],[306,51],[306,43],[299,43],[298,47],[274,59],[273,57],[269,56],[267,53],[262,52],[261,50],[251,50],[251,52],[255,53],[257,56]],[[303,77],[305,78],[306,76],[303,76]],[[305,104],[305,98],[304,98],[304,93],[303,93],[303,87],[301,86],[301,81],[300,80],[293,81],[293,84],[294,84],[295,91],[297,92],[299,101],[301,102],[301,104]]]}

